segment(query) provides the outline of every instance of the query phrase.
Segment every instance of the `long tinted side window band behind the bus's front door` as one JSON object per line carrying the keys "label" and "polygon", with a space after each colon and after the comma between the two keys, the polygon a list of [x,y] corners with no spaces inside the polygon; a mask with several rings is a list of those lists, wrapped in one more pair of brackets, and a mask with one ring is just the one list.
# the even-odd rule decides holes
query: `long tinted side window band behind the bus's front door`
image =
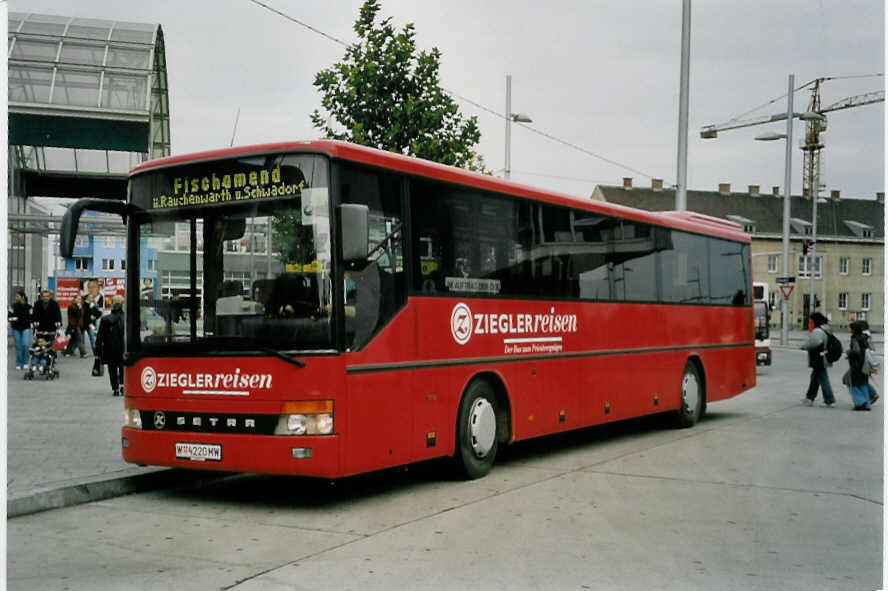
{"label": "long tinted side window band behind the bus's front door", "polygon": [[437,183],[411,183],[414,289],[748,303],[747,245]]}

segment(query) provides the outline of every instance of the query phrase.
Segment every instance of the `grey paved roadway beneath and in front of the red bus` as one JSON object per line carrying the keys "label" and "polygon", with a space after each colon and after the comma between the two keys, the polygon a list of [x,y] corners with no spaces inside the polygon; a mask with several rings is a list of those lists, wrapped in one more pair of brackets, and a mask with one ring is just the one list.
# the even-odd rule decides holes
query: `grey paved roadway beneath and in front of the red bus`
{"label": "grey paved roadway beneath and in front of the red bus", "polygon": [[[800,351],[691,430],[643,419],[335,483],[236,476],[11,519],[9,589],[878,589],[883,412]],[[881,380],[880,380],[881,382]],[[881,388],[881,383],[879,384]]]}

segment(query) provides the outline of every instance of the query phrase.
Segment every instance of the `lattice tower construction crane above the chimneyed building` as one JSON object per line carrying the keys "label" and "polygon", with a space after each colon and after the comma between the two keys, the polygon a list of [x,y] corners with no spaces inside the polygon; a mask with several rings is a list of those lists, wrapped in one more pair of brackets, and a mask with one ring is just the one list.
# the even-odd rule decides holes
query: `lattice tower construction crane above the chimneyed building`
{"label": "lattice tower construction crane above the chimneyed building", "polygon": [[[826,113],[839,111],[841,109],[850,109],[852,107],[861,107],[885,101],[885,91],[878,90],[865,94],[858,94],[843,98],[827,107],[821,107],[820,86],[827,80],[835,78],[817,78],[804,84],[801,88],[813,85],[811,88],[811,100],[808,103],[808,113],[817,113],[824,117],[805,117],[805,138],[801,146],[804,154],[802,164],[802,195],[815,195],[817,188],[820,186],[820,168],[821,168],[821,151],[823,143],[820,141],[820,134],[826,131]],[[799,90],[801,90],[799,88]],[[718,125],[704,125],[700,129],[700,137],[703,139],[712,139],[718,137],[718,132],[727,131],[729,129],[739,129],[741,127],[751,127],[753,125],[763,125],[765,123],[773,123],[775,121],[785,121],[786,113],[776,115],[765,115],[761,117],[753,117],[751,119],[731,119],[725,123]]]}

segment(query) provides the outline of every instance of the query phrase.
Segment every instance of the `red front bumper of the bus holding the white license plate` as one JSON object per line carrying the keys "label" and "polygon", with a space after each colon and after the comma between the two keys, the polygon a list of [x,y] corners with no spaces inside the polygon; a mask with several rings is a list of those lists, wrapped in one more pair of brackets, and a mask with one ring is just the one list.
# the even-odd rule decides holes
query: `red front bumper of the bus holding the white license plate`
{"label": "red front bumper of the bus holding the white license plate", "polygon": [[123,459],[188,470],[341,476],[337,435],[225,435],[121,429]]}

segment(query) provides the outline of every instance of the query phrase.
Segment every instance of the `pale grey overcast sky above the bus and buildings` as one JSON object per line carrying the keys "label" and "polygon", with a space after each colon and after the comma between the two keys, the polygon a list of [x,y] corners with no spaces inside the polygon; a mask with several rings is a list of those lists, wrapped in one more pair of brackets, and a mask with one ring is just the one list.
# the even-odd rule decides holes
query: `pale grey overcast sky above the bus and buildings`
{"label": "pale grey overcast sky above the bus and buildings", "polygon": [[[330,37],[356,40],[361,0],[263,2]],[[652,177],[666,186],[677,182],[681,0],[380,4],[398,28],[414,23],[419,49],[440,50],[441,85],[471,101],[456,99],[464,115],[478,117],[478,151],[497,176],[505,166],[501,114],[510,74],[512,111],[533,119],[531,129],[512,126],[513,181],[579,197],[623,177],[640,187]],[[174,154],[228,146],[236,118],[235,145],[319,137],[309,119],[321,100],[314,77],[345,52],[250,0],[11,0],[9,10],[159,23]],[[754,138],[784,132],[785,122],[709,140],[700,128],[744,114],[785,113],[789,74],[796,87],[834,77],[822,86],[823,105],[883,89],[884,78],[873,75],[884,71],[884,30],[882,0],[692,2],[688,189],[716,190],[722,182],[735,191],[782,187],[785,143]],[[796,92],[795,111],[809,100],[808,89]],[[885,184],[884,103],[828,118],[821,136],[825,192],[875,198]],[[801,191],[802,131],[797,122],[794,194]]]}

